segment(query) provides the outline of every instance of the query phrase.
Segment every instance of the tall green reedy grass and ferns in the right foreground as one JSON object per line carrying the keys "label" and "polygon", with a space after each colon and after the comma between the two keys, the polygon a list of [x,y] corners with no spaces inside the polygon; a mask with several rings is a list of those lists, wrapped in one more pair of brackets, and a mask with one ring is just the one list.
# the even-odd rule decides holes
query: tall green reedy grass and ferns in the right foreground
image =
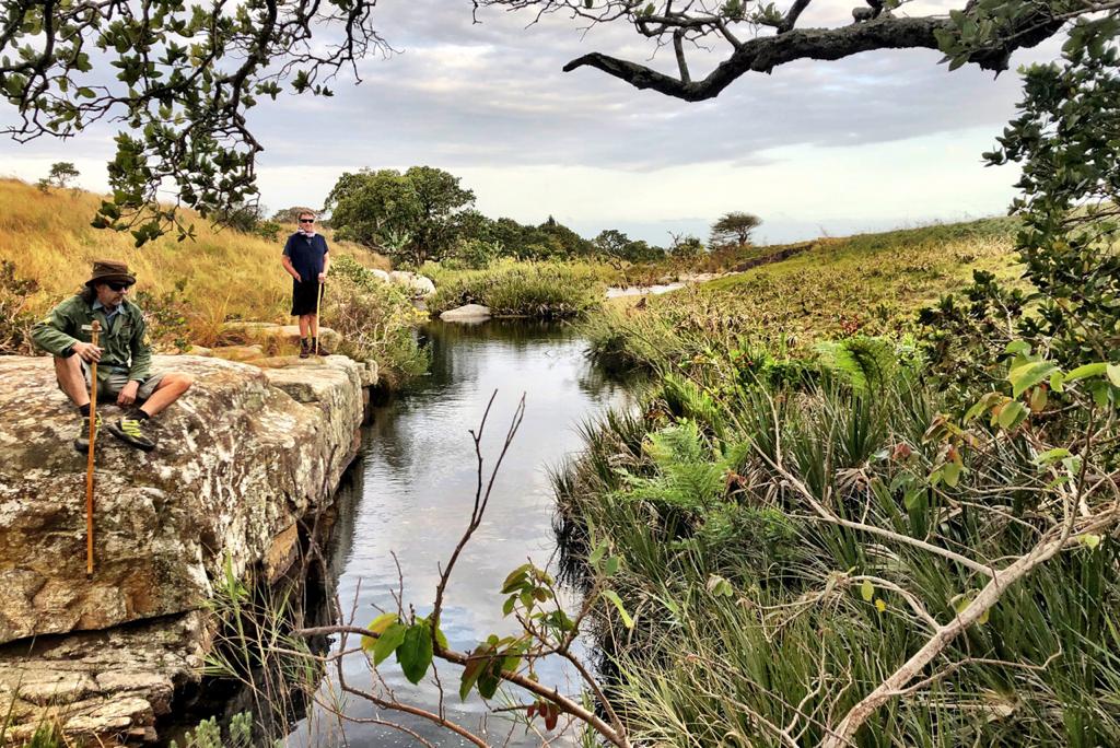
{"label": "tall green reedy grass and ferns in the right foreground", "polygon": [[[590,532],[622,560],[612,586],[636,624],[608,618],[600,642],[638,745],[760,748],[791,723],[797,745],[818,745],[932,634],[900,593],[861,580],[907,590],[942,624],[984,581],[814,520],[775,465],[841,516],[997,565],[1061,516],[1061,488],[1038,480],[1027,448],[1043,431],[978,428],[987,440],[968,450],[960,483],[933,484],[943,443],[925,434],[939,393],[906,368],[862,393],[804,374],[795,385],[748,375],[722,392],[670,378],[642,415],[589,424],[587,451],[556,477],[577,568]],[[1020,581],[923,673],[941,674],[928,688],[893,699],[856,745],[1117,745],[1117,551],[1102,541]]]}

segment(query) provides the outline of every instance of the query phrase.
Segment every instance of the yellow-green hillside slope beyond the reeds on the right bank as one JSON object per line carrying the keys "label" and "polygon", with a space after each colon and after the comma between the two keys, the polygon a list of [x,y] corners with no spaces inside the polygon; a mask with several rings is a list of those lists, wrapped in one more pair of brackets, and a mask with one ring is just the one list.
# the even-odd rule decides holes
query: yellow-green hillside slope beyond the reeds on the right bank
{"label": "yellow-green hillside slope beyond the reeds on the right bank", "polygon": [[[1010,219],[987,218],[822,239],[741,273],[644,301],[616,299],[588,329],[597,354],[640,365],[692,357],[712,339],[796,353],[822,338],[897,335],[973,270],[1016,278],[1014,231]],[[784,249],[748,247],[741,260]]]}

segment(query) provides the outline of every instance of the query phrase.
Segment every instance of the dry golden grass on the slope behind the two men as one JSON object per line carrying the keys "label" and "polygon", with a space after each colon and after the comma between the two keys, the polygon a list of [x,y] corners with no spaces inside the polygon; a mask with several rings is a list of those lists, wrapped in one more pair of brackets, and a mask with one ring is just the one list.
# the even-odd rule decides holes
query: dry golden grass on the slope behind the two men
{"label": "dry golden grass on the slope behind the two men", "polygon": [[[213,342],[226,319],[287,321],[291,282],[280,267],[283,237],[270,242],[195,218],[197,237],[174,236],[137,249],[128,233],[90,226],[101,196],[52,190],[44,194],[17,179],[0,179],[0,260],[10,260],[20,278],[38,282],[31,308],[43,311],[74,293],[88,278],[95,259],[122,260],[137,275],[137,290],[174,292],[185,302],[192,340]],[[389,261],[358,245],[332,242],[335,256],[348,254],[366,267],[389,269]],[[328,322],[329,324],[329,320]]]}

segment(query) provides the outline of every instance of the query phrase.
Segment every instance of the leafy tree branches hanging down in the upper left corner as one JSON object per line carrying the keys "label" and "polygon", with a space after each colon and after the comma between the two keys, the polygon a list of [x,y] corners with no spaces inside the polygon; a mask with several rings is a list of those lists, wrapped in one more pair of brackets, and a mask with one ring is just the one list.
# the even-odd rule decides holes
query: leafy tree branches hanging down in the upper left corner
{"label": "leafy tree branches hanging down in the upper left corner", "polygon": [[[256,194],[262,146],[245,114],[258,97],[276,99],[282,86],[329,96],[327,78],[390,52],[373,6],[11,0],[0,13],[0,90],[18,116],[2,131],[20,142],[69,138],[119,119],[112,197],[94,225],[131,228],[138,244],[172,225],[189,235],[177,205],[212,216]],[[312,41],[320,28],[338,38]],[[170,207],[159,203],[166,184],[176,191]]]}

